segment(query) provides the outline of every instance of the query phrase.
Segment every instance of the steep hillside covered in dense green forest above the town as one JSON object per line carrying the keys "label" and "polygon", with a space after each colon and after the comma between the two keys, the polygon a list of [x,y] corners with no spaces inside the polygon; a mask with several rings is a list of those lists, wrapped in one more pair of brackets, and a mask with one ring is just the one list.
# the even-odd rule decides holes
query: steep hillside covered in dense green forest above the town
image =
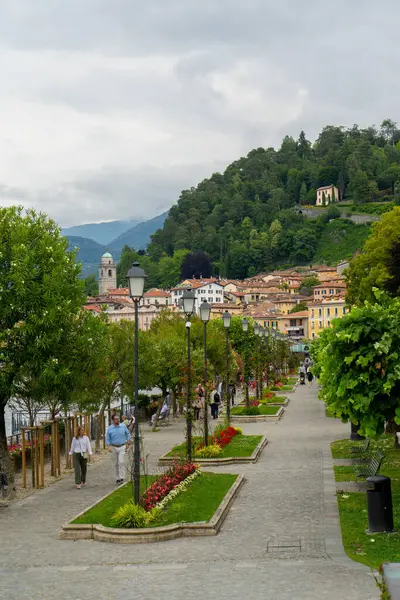
{"label": "steep hillside covered in dense green forest above the town", "polygon": [[314,204],[316,189],[331,184],[356,206],[397,200],[399,140],[395,123],[387,120],[379,130],[328,126],[314,144],[301,132],[298,140],[285,137],[278,150],[252,150],[224,173],[181,193],[152,236],[145,262],[203,250],[215,272],[245,277],[279,265],[347,258],[368,227],[340,221],[332,231],[334,212],[305,219],[295,209]]}

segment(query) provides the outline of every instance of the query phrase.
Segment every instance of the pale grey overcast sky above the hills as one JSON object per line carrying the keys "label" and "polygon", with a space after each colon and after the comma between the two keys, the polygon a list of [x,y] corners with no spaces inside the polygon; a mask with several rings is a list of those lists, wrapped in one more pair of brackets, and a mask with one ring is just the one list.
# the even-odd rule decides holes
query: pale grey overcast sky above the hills
{"label": "pale grey overcast sky above the hills", "polygon": [[0,0],[0,203],[150,218],[259,146],[400,121],[398,0]]}

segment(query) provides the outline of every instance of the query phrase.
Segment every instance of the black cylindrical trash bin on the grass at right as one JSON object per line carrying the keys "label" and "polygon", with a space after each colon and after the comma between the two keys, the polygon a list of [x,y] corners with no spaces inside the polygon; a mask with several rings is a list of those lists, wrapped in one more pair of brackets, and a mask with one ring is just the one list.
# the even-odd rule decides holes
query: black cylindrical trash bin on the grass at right
{"label": "black cylindrical trash bin on the grass at right", "polygon": [[367,482],[371,486],[367,490],[367,533],[392,533],[394,524],[390,477],[376,475],[367,477]]}

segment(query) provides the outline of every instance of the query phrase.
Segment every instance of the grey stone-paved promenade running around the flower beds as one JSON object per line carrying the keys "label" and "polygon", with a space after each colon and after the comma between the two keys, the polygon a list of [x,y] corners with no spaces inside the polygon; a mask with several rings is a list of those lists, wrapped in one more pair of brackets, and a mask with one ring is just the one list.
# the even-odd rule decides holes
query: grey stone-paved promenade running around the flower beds
{"label": "grey stone-paved promenade running around the flower beds", "polygon": [[[349,426],[325,417],[316,389],[299,386],[279,423],[243,426],[269,444],[254,465],[219,467],[246,483],[218,536],[159,544],[60,541],[62,523],[113,489],[110,461],[0,512],[0,597],[138,600],[372,600],[371,571],[346,557],[340,537],[329,442]],[[145,430],[161,456],[183,438],[183,422]],[[217,470],[217,468],[214,468]]]}

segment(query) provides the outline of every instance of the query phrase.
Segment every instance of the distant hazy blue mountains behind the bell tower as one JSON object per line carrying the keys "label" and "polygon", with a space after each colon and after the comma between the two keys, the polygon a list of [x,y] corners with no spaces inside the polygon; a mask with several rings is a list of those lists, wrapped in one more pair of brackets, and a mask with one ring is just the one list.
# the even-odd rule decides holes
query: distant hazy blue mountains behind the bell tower
{"label": "distant hazy blue mountains behind the bell tower", "polygon": [[77,260],[82,263],[82,277],[87,277],[97,273],[100,258],[106,250],[117,261],[125,245],[135,250],[145,249],[153,233],[163,227],[167,216],[168,212],[165,212],[142,223],[134,220],[86,223],[67,227],[62,233],[70,249],[79,248]]}

